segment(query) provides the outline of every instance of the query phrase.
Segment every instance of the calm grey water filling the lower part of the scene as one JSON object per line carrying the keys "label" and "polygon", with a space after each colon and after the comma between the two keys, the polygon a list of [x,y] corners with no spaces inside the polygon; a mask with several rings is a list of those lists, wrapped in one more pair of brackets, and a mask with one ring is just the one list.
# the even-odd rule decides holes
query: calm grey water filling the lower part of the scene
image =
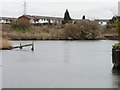
{"label": "calm grey water filling the lower part of the scene", "polygon": [[35,41],[33,52],[31,47],[2,51],[2,87],[117,88],[119,76],[111,72],[116,42]]}

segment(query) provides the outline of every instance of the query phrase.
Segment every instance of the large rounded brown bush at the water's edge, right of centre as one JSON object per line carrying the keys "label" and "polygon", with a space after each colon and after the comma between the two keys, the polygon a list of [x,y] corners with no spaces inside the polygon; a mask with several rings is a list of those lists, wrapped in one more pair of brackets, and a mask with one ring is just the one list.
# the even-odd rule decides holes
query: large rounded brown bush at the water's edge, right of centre
{"label": "large rounded brown bush at the water's edge, right of centre", "polygon": [[81,20],[76,24],[66,24],[64,35],[66,39],[98,39],[102,31],[97,22]]}

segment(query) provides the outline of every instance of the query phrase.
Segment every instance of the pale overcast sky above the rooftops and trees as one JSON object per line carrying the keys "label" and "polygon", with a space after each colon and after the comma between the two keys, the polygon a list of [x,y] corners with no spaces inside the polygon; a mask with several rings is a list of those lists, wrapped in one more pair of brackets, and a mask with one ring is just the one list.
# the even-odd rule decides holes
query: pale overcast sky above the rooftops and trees
{"label": "pale overcast sky above the rooftops and trees", "polygon": [[[86,15],[89,19],[112,18],[117,14],[119,0],[25,0],[27,14],[64,17],[66,9],[72,18]],[[23,14],[24,0],[0,1],[0,16],[18,17]]]}

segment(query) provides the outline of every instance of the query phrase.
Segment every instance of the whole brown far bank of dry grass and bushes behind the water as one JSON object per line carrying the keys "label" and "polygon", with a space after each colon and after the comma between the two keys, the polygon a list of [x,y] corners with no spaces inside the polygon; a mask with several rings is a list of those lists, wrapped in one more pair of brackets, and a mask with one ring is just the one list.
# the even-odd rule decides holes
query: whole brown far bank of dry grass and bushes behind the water
{"label": "whole brown far bank of dry grass and bushes behind the water", "polygon": [[117,36],[109,30],[105,31],[104,27],[94,21],[80,21],[66,25],[31,25],[25,30],[3,24],[2,35],[11,40],[97,40],[109,39],[105,36]]}

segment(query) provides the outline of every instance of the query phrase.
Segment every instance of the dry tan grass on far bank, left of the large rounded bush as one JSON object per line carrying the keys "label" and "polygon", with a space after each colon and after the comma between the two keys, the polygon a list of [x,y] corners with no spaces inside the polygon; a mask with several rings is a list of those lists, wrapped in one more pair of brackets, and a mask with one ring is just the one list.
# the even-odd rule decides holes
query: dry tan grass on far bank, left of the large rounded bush
{"label": "dry tan grass on far bank, left of the large rounded bush", "polygon": [[[8,32],[9,31],[9,32]],[[59,40],[64,39],[64,30],[58,26],[34,26],[31,25],[29,30],[18,31],[18,30],[8,30],[3,28],[3,36],[7,36],[12,40]]]}

